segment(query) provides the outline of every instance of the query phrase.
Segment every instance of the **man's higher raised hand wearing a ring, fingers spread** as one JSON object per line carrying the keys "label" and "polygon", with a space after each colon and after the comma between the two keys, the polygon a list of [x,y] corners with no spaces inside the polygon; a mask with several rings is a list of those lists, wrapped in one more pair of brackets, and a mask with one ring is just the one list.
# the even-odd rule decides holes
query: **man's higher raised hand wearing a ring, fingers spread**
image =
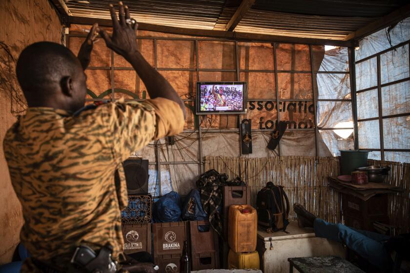
{"label": "man's higher raised hand wearing a ring, fingers spread", "polygon": [[100,30],[100,35],[108,48],[114,50],[117,54],[123,56],[129,61],[137,49],[137,35],[135,34],[138,24],[137,22],[131,22],[128,7],[123,5],[123,2],[119,2],[119,17],[115,14],[115,9],[110,4],[110,14],[112,19],[113,33],[109,36],[104,30]]}

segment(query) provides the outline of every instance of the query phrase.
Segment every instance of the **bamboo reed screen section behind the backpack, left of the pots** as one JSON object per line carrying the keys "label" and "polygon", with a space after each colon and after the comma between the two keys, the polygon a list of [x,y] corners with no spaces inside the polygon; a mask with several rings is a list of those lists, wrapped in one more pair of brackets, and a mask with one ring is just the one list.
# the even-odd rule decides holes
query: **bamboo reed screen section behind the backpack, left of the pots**
{"label": "bamboo reed screen section behind the backpack, left of the pots", "polygon": [[263,158],[206,156],[205,171],[215,169],[232,179],[241,174],[250,187],[252,205],[257,193],[272,181],[284,187],[290,202],[290,220],[295,220],[293,203],[329,222],[341,222],[340,194],[328,187],[328,176],[339,174],[338,157],[273,156]]}

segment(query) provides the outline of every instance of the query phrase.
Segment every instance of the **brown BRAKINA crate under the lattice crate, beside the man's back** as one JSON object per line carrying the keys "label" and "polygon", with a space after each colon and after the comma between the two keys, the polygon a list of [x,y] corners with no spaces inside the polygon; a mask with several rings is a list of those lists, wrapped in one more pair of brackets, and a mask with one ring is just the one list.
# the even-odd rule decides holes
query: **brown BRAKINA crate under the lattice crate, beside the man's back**
{"label": "brown BRAKINA crate under the lattice crate, beside the man's back", "polygon": [[151,253],[151,224],[122,224],[124,253]]}

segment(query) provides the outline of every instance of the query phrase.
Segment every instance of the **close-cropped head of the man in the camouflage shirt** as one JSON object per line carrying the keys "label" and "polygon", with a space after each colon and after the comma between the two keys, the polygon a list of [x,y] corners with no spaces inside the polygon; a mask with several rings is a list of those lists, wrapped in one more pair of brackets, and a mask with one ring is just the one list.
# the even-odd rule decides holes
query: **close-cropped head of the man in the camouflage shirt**
{"label": "close-cropped head of the man in the camouflage shirt", "polygon": [[60,44],[29,45],[20,54],[16,73],[29,107],[76,111],[84,105],[86,77],[81,63]]}

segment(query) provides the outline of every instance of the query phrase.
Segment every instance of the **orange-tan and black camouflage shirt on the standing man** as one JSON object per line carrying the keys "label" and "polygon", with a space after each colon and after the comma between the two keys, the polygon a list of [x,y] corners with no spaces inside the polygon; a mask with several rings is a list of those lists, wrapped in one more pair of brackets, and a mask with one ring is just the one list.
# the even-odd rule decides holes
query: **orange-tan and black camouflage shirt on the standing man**
{"label": "orange-tan and black camouflage shirt on the standing man", "polygon": [[[180,106],[165,98],[107,103],[78,115],[28,108],[3,146],[22,205],[21,242],[32,257],[64,268],[78,245],[98,250],[109,242],[121,260],[126,184],[115,184],[115,170],[132,152],[183,128]],[[21,272],[36,271],[27,260]]]}

